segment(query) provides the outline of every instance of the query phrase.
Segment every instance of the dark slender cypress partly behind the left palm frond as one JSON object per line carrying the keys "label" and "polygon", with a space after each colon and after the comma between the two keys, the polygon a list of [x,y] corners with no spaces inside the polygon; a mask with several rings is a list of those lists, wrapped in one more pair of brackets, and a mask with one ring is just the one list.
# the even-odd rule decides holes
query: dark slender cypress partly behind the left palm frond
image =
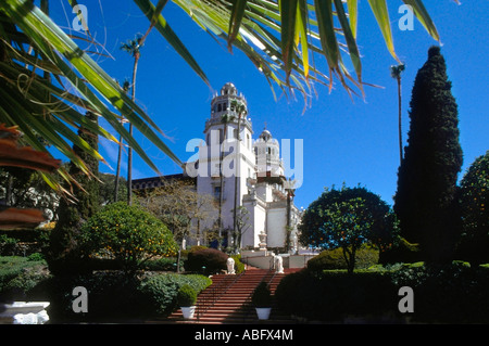
{"label": "dark slender cypress partly behind the left palm frond", "polygon": [[[98,124],[97,115],[91,112],[87,112],[85,119]],[[98,150],[98,137],[96,134],[82,127],[78,136],[92,149]],[[93,177],[88,177],[75,164],[70,163],[70,175],[80,183],[83,189],[77,185],[72,187],[73,195],[77,200],[75,203],[65,198],[60,201],[58,221],[50,234],[50,246],[47,253],[50,270],[54,273],[62,273],[65,270],[74,271],[72,265],[78,260],[76,244],[73,242],[74,234],[99,209],[99,182],[97,181],[99,162],[77,145],[73,146],[73,151],[85,162]]]}

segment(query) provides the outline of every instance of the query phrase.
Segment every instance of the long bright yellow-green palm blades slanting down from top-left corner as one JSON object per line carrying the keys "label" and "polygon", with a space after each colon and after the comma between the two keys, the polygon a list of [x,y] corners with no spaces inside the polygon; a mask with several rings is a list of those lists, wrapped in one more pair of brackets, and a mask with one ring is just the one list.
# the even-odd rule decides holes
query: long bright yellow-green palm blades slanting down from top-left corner
{"label": "long bright yellow-green palm blades slanting down from top-left corner", "polygon": [[155,171],[158,168],[151,162],[146,152],[139,146],[134,138],[120,124],[117,117],[108,110],[102,101],[85,85],[55,52],[63,56],[78,71],[90,87],[100,92],[112,105],[114,105],[125,118],[151,140],[160,150],[167,154],[174,162],[181,166],[181,162],[164,144],[156,132],[163,134],[156,124],[135,104],[118,87],[118,85],[101,69],[95,62],[84,53],[52,21],[29,1],[9,0],[0,4],[14,23],[33,40],[36,47],[57,65],[63,77],[71,81],[73,88],[84,98],[87,105],[95,113],[102,115],[124,140],[134,148],[136,153]]}

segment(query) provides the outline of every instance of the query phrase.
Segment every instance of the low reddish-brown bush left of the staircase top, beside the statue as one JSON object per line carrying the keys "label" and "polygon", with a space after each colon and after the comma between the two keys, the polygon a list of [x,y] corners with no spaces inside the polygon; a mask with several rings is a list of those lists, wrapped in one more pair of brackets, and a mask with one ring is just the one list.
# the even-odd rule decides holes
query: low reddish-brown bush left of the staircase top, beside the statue
{"label": "low reddish-brown bush left of the staircase top, beside the statue", "polygon": [[185,269],[193,272],[215,273],[227,269],[228,257],[228,255],[215,248],[191,251],[188,253]]}

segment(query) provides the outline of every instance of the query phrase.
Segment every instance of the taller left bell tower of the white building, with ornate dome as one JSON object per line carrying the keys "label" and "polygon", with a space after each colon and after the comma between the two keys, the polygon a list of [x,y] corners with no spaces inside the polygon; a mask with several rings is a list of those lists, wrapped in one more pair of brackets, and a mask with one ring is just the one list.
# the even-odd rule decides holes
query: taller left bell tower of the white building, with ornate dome
{"label": "taller left bell tower of the white building, with ornate dome", "polygon": [[[203,133],[205,144],[199,150],[199,166],[205,165],[209,174],[197,177],[198,192],[222,202],[223,228],[233,229],[235,198],[237,207],[241,206],[242,196],[248,193],[247,179],[255,176],[253,129],[247,100],[234,84],[225,84],[214,94]],[[221,192],[223,201],[220,201]]]}

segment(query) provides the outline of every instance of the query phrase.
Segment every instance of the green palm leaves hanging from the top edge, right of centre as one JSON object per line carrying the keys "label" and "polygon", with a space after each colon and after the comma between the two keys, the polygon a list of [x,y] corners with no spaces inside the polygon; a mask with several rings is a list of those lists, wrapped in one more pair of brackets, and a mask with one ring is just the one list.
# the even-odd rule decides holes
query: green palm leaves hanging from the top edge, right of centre
{"label": "green palm leaves hanging from the top edge, right of centre", "polygon": [[[175,2],[191,13],[192,17],[197,17],[197,14],[191,12],[190,3],[193,1]],[[210,7],[218,7],[221,3],[223,7],[230,7],[227,16],[223,15],[223,25],[218,30],[215,29],[214,34],[225,37],[229,47],[234,43],[238,49],[242,49],[268,81],[278,85],[283,91],[298,89],[308,94],[311,90],[310,81],[326,84],[331,88],[337,79],[348,92],[363,92],[362,63],[356,44],[358,0],[202,2],[209,3]],[[429,35],[439,40],[438,31],[423,2],[403,2],[411,7]],[[398,60],[387,0],[368,0],[368,3],[387,49]],[[205,21],[209,20],[211,17],[205,17]],[[199,18],[199,23],[205,21]],[[243,41],[250,41],[259,49],[241,48],[240,43]],[[324,57],[326,64],[323,65],[322,60],[315,55]],[[350,65],[353,74],[347,67]]]}

